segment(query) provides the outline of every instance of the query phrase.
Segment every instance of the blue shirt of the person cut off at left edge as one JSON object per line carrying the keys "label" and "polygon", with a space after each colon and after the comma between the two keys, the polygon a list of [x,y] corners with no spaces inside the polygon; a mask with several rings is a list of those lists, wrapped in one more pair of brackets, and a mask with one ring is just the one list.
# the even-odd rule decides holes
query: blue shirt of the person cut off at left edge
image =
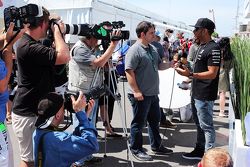
{"label": "blue shirt of the person cut off at left edge", "polygon": [[[7,75],[7,68],[2,59],[0,59],[0,80]],[[6,118],[6,103],[9,99],[9,92],[6,89],[4,93],[0,93],[0,122],[4,122]]]}

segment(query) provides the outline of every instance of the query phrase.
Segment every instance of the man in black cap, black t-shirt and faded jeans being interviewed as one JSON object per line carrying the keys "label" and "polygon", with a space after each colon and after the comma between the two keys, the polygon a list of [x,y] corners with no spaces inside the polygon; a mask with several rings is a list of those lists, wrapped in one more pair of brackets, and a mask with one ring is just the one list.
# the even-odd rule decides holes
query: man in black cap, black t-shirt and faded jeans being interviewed
{"label": "man in black cap, black t-shirt and faded jeans being interviewed", "polygon": [[185,159],[201,159],[205,151],[214,147],[213,105],[217,98],[221,60],[220,48],[211,39],[215,24],[207,18],[200,18],[194,27],[193,32],[200,45],[194,58],[193,72],[186,67],[176,68],[179,74],[193,78],[191,104],[197,142],[191,153],[183,154]]}

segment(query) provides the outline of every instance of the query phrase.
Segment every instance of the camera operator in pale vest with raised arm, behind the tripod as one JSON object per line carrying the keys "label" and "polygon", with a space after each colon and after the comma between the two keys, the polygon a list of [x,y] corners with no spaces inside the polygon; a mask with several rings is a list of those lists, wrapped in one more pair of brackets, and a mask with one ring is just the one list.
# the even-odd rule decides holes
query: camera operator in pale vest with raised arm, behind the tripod
{"label": "camera operator in pale vest with raised arm, behind the tripod", "polygon": [[[120,31],[114,31],[112,36],[119,36],[120,33]],[[85,93],[91,87],[100,85],[102,83],[102,73],[97,73],[97,76],[95,76],[95,73],[98,67],[104,67],[104,65],[111,58],[118,42],[118,40],[111,41],[107,50],[99,58],[97,58],[94,51],[98,44],[98,39],[91,34],[81,36],[79,41],[71,49],[68,89],[70,91],[82,90],[83,93]],[[93,111],[90,116],[94,125],[96,124],[97,109],[98,100],[95,100],[95,106],[93,107]],[[92,162],[95,162],[94,158],[90,159],[93,159]],[[100,162],[100,160],[96,159],[96,162]]]}

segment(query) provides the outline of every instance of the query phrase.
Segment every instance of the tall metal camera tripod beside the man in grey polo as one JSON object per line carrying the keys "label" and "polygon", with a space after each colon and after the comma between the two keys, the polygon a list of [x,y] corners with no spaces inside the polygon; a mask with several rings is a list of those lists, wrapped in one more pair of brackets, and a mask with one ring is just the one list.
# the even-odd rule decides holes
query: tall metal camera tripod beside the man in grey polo
{"label": "tall metal camera tripod beside the man in grey polo", "polygon": [[[108,126],[108,109],[109,109],[109,100],[112,100],[110,98],[114,99],[114,102],[117,102],[118,105],[118,110],[119,110],[119,115],[120,115],[120,119],[121,119],[121,123],[122,123],[122,129],[123,129],[123,133],[124,136],[126,137],[126,144],[127,144],[127,160],[129,160],[129,154],[131,153],[130,150],[130,146],[129,146],[129,138],[128,138],[128,131],[127,131],[127,122],[126,122],[126,113],[124,112],[125,110],[125,101],[124,101],[124,109],[122,108],[122,104],[121,104],[121,94],[118,91],[118,87],[117,87],[117,78],[116,78],[116,74],[115,74],[115,69],[114,69],[114,65],[112,60],[110,59],[107,62],[107,71],[106,71],[106,83],[103,84],[107,84],[108,87],[108,93],[105,95],[104,98],[104,120],[103,120],[103,126],[105,127],[104,129],[104,137],[105,137],[105,145],[104,145],[104,157],[107,157],[106,153],[107,153],[107,126]],[[101,70],[98,69],[98,72],[100,72]],[[103,71],[103,75],[104,76],[104,70]],[[124,89],[124,87],[123,87]],[[125,97],[125,95],[124,95]],[[124,98],[125,100],[125,98]],[[130,159],[131,162],[131,166],[133,167],[133,161]]]}

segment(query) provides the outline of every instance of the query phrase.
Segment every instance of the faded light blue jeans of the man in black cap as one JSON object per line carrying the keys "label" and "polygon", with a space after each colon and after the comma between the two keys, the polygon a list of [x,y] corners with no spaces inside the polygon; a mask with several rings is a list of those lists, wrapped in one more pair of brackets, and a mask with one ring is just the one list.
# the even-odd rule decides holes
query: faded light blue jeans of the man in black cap
{"label": "faded light blue jeans of the man in black cap", "polygon": [[202,101],[192,99],[193,119],[197,126],[196,147],[207,151],[214,147],[215,130],[213,125],[213,106],[214,101]]}

